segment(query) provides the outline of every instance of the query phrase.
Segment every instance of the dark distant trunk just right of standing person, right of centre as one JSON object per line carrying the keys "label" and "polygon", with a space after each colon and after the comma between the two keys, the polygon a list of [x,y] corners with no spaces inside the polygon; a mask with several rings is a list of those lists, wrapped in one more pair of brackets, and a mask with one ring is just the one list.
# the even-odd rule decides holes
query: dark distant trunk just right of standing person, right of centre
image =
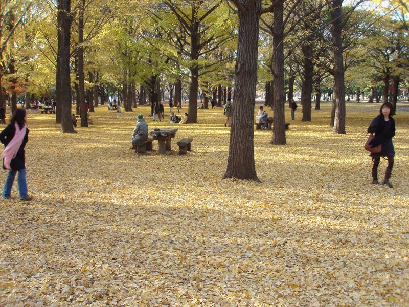
{"label": "dark distant trunk just right of standing person, right of centre", "polygon": [[307,39],[306,45],[302,46],[304,56],[304,77],[302,84],[301,104],[303,105],[302,121],[311,121],[311,95],[312,95],[312,75],[314,63],[312,62],[312,45],[311,39]]}

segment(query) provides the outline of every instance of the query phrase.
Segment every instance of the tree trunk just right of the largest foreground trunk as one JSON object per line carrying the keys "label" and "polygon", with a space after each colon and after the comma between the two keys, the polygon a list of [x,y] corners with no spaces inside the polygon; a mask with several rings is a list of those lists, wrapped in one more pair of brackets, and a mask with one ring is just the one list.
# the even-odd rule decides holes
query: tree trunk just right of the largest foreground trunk
{"label": "tree trunk just right of the largest foreground trunk", "polygon": [[271,144],[285,145],[285,125],[284,125],[284,35],[283,35],[283,2],[274,7],[273,39],[274,56],[272,58],[272,73],[274,74],[273,95],[273,128]]}

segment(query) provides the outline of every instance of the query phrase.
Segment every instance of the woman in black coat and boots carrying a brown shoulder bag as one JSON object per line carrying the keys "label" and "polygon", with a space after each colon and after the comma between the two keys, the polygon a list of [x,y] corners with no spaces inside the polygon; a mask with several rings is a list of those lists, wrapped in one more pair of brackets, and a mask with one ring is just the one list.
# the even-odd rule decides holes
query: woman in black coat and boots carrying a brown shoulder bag
{"label": "woman in black coat and boots carrying a brown shoulder bag", "polygon": [[392,138],[395,136],[395,120],[392,118],[393,105],[390,102],[385,102],[379,109],[379,115],[375,117],[372,123],[368,127],[369,133],[375,133],[375,137],[369,143],[372,147],[376,147],[382,144],[382,151],[380,153],[371,153],[372,161],[372,183],[379,184],[378,182],[378,165],[380,157],[387,157],[388,166],[385,171],[385,179],[383,184],[393,188],[393,185],[389,182],[391,177],[392,167],[394,162],[395,150],[393,148]]}

